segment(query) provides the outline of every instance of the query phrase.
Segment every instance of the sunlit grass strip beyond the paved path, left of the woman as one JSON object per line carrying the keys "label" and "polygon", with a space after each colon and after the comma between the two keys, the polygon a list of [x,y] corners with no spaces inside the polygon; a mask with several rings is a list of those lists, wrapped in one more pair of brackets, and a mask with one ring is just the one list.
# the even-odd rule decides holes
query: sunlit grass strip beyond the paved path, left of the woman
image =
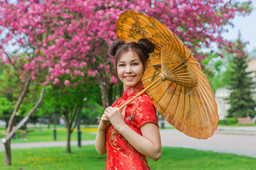
{"label": "sunlit grass strip beyond the paved path, left of the woman", "polygon": [[[22,137],[16,137],[16,139],[11,140],[12,143],[21,143],[21,142],[50,142],[54,141],[53,139],[53,129],[43,128],[41,133],[38,128],[31,129],[33,131],[28,132],[26,135],[26,140]],[[0,131],[0,138],[4,137],[4,130]],[[82,128],[81,129],[82,140],[95,140],[96,129],[95,128]],[[68,137],[68,131],[66,128],[57,128],[56,130],[56,141],[66,141]],[[71,140],[78,140],[78,132],[74,130],[71,134]]]}

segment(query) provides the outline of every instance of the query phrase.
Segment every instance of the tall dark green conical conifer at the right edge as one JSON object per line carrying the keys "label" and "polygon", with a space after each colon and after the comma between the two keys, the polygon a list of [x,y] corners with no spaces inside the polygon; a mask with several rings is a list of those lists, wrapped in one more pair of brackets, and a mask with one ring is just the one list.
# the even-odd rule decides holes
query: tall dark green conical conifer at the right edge
{"label": "tall dark green conical conifer at the right edge", "polygon": [[228,117],[230,118],[245,118],[250,115],[253,118],[256,114],[256,102],[252,99],[252,89],[255,84],[252,82],[250,77],[251,72],[245,72],[247,68],[247,54],[244,51],[245,43],[240,39],[235,43],[235,47],[238,53],[230,63],[230,109],[228,109]]}

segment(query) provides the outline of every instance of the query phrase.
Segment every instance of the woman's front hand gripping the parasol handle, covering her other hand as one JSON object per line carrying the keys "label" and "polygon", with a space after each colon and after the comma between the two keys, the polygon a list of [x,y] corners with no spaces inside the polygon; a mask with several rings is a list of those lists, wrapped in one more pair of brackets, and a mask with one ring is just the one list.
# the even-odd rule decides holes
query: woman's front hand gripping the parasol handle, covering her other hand
{"label": "woman's front hand gripping the parasol handle, covering her other hand", "polygon": [[108,107],[105,109],[104,114],[109,118],[110,123],[114,126],[116,130],[119,130],[122,125],[124,125],[124,115],[127,106],[123,109],[122,113],[119,108]]}

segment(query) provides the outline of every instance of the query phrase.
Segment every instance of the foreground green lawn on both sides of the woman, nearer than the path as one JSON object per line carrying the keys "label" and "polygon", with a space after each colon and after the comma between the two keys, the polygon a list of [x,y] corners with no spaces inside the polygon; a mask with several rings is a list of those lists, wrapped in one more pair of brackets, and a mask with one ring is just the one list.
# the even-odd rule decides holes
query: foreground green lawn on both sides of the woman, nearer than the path
{"label": "foreground green lawn on both sides of the woman, nearer than the path", "polygon": [[[99,156],[94,146],[72,147],[72,153],[65,147],[12,149],[12,166],[4,165],[4,152],[0,152],[0,169],[13,170],[101,170],[105,169],[106,156]],[[152,170],[188,169],[188,170],[250,170],[255,169],[256,159],[235,154],[203,152],[195,149],[163,147],[158,162],[149,159]]]}

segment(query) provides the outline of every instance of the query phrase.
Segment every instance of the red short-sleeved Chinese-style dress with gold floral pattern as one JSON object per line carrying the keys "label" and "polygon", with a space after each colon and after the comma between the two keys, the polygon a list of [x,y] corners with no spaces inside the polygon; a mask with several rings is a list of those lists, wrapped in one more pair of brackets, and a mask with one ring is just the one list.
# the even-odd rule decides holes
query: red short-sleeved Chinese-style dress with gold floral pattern
{"label": "red short-sleeved Chinese-style dress with gold floral pattern", "polygon": [[[132,97],[142,91],[142,82],[124,91],[122,98],[117,99],[112,107],[119,108]],[[139,135],[139,129],[145,123],[155,123],[158,125],[156,108],[151,98],[144,93],[129,103],[124,117],[125,123]],[[107,127],[106,134],[107,165],[108,170],[144,170],[150,169],[146,156],[138,152],[112,125]]]}

